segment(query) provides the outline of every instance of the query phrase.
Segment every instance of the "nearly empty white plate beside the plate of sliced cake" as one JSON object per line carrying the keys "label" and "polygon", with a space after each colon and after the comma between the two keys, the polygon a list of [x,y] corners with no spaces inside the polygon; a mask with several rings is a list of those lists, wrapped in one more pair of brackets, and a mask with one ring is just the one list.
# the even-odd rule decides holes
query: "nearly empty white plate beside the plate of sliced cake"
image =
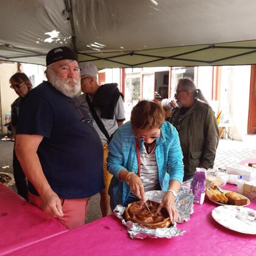
{"label": "nearly empty white plate beside the plate of sliced cake", "polygon": [[243,218],[254,219],[256,211],[251,208],[222,205],[212,211],[212,216],[215,221],[227,229],[232,229],[240,233],[256,235],[256,221],[242,221],[236,216],[243,216]]}

